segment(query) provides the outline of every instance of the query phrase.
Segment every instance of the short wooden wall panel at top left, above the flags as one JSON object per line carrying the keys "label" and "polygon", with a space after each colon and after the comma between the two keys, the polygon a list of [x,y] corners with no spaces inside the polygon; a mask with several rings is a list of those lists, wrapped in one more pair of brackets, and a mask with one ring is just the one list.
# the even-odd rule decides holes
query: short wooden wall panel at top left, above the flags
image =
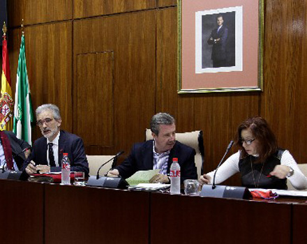
{"label": "short wooden wall panel at top left, above the flags", "polygon": [[72,0],[11,0],[8,3],[9,26],[70,20],[73,17]]}

